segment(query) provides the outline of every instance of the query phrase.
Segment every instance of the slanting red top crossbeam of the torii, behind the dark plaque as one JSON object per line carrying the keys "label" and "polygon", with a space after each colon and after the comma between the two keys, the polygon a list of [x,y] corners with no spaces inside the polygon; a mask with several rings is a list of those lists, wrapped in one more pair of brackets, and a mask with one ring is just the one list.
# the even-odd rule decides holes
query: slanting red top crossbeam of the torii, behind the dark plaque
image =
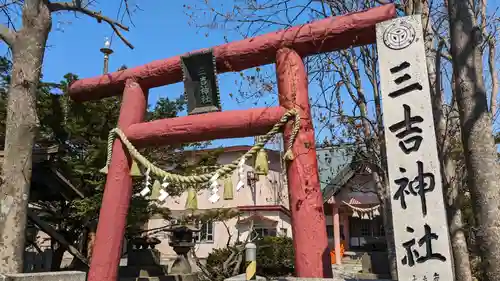
{"label": "slanting red top crossbeam of the torii, behind the dark plaque", "polygon": [[[375,43],[375,24],[394,18],[395,6],[314,21],[289,29],[214,47],[217,72],[241,71],[275,62],[276,52],[289,47],[301,57]],[[121,95],[127,79],[150,89],[182,81],[180,56],[74,82],[69,90],[75,101]]]}

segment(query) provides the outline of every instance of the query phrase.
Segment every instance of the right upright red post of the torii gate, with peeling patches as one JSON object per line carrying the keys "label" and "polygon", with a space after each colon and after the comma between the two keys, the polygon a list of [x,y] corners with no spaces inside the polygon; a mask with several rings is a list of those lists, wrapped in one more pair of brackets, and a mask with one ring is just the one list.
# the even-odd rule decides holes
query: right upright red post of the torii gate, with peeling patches
{"label": "right upright red post of the torii gate, with peeling patches", "polygon": [[[292,149],[295,159],[287,165],[295,273],[297,277],[331,277],[307,74],[299,54],[287,48],[279,50],[276,75],[280,105],[288,109],[296,108],[301,116],[301,128]],[[285,145],[291,132],[289,123],[284,132]]]}

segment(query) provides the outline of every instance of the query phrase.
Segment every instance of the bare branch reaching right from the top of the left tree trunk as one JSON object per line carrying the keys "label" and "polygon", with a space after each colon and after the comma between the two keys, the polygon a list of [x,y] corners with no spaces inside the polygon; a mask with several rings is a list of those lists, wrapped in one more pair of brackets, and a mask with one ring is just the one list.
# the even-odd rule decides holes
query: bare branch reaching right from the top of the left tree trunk
{"label": "bare branch reaching right from the top of the left tree trunk", "polygon": [[72,3],[72,2],[53,2],[48,4],[49,10],[51,12],[59,12],[59,11],[73,11],[73,12],[78,12],[85,14],[89,17],[95,18],[98,23],[101,23],[102,21],[105,21],[106,23],[109,24],[109,26],[113,29],[113,31],[120,37],[120,39],[127,45],[130,49],[133,49],[134,46],[123,36],[123,34],[120,32],[120,29],[129,31],[129,28],[109,17],[103,16],[101,12],[95,12],[90,9],[81,7],[78,4]]}

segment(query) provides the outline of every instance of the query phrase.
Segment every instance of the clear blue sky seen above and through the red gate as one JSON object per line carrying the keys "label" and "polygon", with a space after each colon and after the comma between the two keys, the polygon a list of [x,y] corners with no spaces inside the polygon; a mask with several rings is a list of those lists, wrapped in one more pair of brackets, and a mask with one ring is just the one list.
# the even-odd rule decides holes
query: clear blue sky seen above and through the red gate
{"label": "clear blue sky seen above and through the red gate", "polygon": [[[100,1],[102,13],[115,18],[118,0]],[[137,1],[136,1],[137,2]],[[139,66],[153,60],[169,58],[196,49],[212,47],[224,43],[223,33],[211,31],[210,36],[197,33],[188,24],[183,3],[186,1],[139,1],[142,11],[133,15],[135,26],[123,34],[134,45],[129,49],[117,36],[112,37],[114,53],[110,56],[109,70],[115,71],[121,65]],[[137,3],[139,3],[137,2]],[[54,15],[46,51],[43,76],[45,81],[58,82],[68,72],[80,78],[100,75],[103,54],[99,49],[104,38],[111,37],[112,30],[106,23],[98,24],[95,19],[73,13]],[[3,44],[3,43],[0,43]],[[5,49],[5,46],[1,47]],[[0,49],[0,51],[3,51]],[[228,93],[236,91],[235,74],[219,75],[223,110],[243,109],[255,106],[239,104],[229,98]],[[159,97],[177,98],[183,92],[183,84],[177,83],[150,91],[149,104],[154,105]],[[215,144],[252,144],[253,138],[217,141]]]}

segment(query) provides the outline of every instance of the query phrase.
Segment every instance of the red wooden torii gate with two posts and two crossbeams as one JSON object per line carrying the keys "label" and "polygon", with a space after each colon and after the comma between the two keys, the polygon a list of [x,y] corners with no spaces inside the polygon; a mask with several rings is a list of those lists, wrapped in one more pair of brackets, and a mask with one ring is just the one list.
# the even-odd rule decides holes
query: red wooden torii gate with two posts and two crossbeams
{"label": "red wooden torii gate with two posts and two crossbeams", "polygon": [[[320,191],[307,73],[302,57],[375,43],[375,24],[396,16],[392,4],[327,18],[213,48],[218,73],[276,63],[280,106],[206,113],[144,122],[150,88],[181,82],[180,56],[74,82],[69,94],[79,102],[123,95],[118,127],[136,146],[238,138],[267,133],[289,109],[301,116],[287,167],[295,270],[298,277],[331,276]],[[295,95],[293,95],[295,93]],[[285,142],[291,126],[284,130]],[[117,280],[125,221],[132,195],[131,158],[120,140],[113,155],[92,255],[89,281]]]}

